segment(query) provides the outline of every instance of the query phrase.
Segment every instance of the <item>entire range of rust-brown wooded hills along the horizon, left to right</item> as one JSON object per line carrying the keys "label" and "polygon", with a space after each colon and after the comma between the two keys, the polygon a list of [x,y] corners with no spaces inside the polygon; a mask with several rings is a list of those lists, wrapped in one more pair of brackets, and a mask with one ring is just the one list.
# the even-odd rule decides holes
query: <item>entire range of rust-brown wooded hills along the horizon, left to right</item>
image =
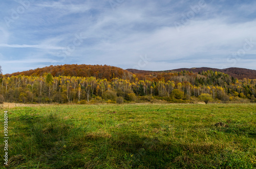
{"label": "entire range of rust-brown wooded hills along the horizon, left to right", "polygon": [[256,70],[230,67],[225,69],[210,68],[210,67],[199,67],[199,68],[179,68],[172,70],[163,70],[163,71],[150,71],[150,70],[138,70],[138,69],[122,69],[115,66],[109,65],[86,65],[86,64],[65,64],[57,66],[47,66],[43,68],[36,68],[27,71],[17,72],[13,74],[7,74],[7,77],[25,75],[25,76],[42,76],[44,74],[51,73],[54,77],[58,76],[75,76],[75,77],[90,77],[94,76],[98,79],[107,79],[112,78],[121,78],[121,79],[130,79],[132,74],[136,74],[139,79],[148,79],[148,76],[157,76],[162,73],[177,73],[180,71],[189,71],[197,74],[198,72],[212,70],[225,73],[231,77],[237,79],[256,79]]}

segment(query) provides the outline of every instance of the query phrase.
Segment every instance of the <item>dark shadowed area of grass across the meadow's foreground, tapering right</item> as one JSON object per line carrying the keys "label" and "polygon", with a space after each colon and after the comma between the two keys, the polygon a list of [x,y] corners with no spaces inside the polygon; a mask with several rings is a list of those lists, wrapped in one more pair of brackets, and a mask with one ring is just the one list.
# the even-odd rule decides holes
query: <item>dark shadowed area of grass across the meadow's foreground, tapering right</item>
{"label": "dark shadowed area of grass across the meadow's foreground, tapering right", "polygon": [[[22,149],[12,145],[15,151],[9,168],[228,168],[242,163],[230,162],[230,157],[241,156],[212,143],[163,141],[124,130],[92,132],[56,114],[17,120],[26,139],[20,139]],[[248,160],[242,164],[247,166]]]}

